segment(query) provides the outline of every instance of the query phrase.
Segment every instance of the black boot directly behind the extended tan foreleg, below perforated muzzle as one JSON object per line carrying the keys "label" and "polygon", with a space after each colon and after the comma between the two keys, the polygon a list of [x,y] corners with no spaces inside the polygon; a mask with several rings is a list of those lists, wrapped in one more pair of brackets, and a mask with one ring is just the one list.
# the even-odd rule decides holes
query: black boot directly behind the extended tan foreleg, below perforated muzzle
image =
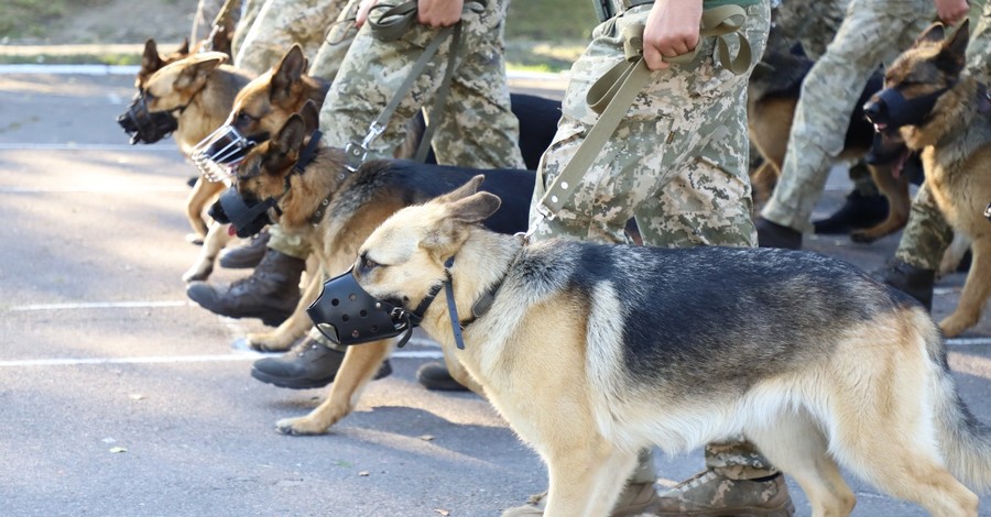
{"label": "black boot directly behind the extended tan foreleg, below perforated muzzle", "polygon": [[[330,349],[307,336],[277,358],[255,361],[251,366],[251,376],[290,389],[324,387],[334,382],[344,358],[344,352]],[[374,378],[379,380],[391,373],[392,365],[385,360]]]}

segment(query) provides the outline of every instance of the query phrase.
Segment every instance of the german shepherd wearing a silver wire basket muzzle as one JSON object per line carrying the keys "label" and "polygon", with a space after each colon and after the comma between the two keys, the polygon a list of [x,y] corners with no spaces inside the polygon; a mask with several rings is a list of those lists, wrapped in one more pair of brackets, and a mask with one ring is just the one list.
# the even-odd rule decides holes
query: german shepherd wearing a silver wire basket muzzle
{"label": "german shepherd wearing a silver wire basket muzzle", "polygon": [[[208,152],[216,141],[230,134],[243,136],[244,142],[266,140],[307,101],[314,102],[316,107],[322,106],[329,85],[307,75],[307,66],[302,47],[293,45],[272,69],[252,79],[237,92],[233,102],[224,113],[226,120],[214,127],[216,130],[211,133],[204,134],[197,148]],[[194,163],[203,163],[196,153]],[[200,178],[217,174],[205,167],[200,167]],[[225,188],[221,182],[199,182],[209,184],[215,189],[215,195]],[[231,239],[228,229],[227,224],[210,224],[199,256],[183,274],[183,280],[206,280],[210,276],[220,251]]]}

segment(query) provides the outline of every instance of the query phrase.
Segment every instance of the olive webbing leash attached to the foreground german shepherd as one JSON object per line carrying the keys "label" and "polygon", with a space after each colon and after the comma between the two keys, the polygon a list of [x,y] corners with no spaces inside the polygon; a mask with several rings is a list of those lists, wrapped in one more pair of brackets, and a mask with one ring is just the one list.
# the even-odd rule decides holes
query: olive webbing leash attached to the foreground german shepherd
{"label": "olive webbing leash attached to the foreground german shepherd", "polygon": [[[750,42],[740,32],[747,21],[747,12],[734,4],[720,6],[703,12],[699,29],[699,43],[701,37],[715,37],[717,41],[716,54],[719,63],[736,75],[743,74],[750,68],[752,51]],[[565,165],[564,170],[547,188],[547,191],[537,204],[537,213],[541,219],[554,220],[560,210],[571,200],[574,189],[585,176],[588,167],[595,162],[602,147],[616,132],[620,121],[627,111],[633,106],[633,101],[651,79],[652,72],[643,59],[643,30],[644,25],[630,25],[623,30],[623,53],[625,59],[610,68],[589,88],[586,103],[595,112],[599,113],[588,135],[578,146],[575,156]],[[740,51],[737,57],[731,58],[729,44],[726,37],[737,34],[740,41]],[[691,63],[698,54],[698,44],[687,54],[675,57],[664,57],[672,64]],[[541,173],[537,173],[538,176]],[[543,177],[541,176],[541,179]],[[529,238],[536,230],[534,224],[524,235]]]}

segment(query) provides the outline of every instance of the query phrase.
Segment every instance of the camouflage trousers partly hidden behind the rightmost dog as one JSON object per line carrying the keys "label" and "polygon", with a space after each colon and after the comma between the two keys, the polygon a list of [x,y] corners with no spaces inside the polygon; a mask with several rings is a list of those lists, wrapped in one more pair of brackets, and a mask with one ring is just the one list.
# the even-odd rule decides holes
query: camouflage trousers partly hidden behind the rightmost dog
{"label": "camouflage trousers partly hidden behind the rightmost dog", "polygon": [[[978,6],[979,7],[979,6]],[[967,70],[981,82],[991,84],[991,2],[985,2],[967,46]],[[954,240],[954,229],[946,222],[936,200],[923,184],[908,213],[895,258],[922,270],[936,271],[943,254]]]}

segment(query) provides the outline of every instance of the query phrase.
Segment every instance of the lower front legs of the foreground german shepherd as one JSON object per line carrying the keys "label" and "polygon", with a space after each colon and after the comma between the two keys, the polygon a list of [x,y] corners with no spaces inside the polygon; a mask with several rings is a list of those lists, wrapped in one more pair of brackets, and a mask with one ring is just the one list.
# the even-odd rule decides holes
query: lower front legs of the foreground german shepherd
{"label": "lower front legs of the foreground german shepherd", "polygon": [[636,453],[620,451],[598,435],[555,446],[545,457],[549,488],[544,516],[609,515],[636,466]]}

